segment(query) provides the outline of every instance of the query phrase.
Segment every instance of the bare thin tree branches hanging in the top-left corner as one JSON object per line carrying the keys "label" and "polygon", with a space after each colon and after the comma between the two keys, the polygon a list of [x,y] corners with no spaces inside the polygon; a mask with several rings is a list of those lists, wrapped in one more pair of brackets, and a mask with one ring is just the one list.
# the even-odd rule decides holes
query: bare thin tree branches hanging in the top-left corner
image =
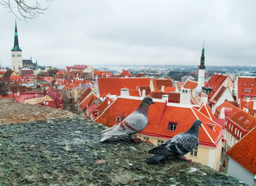
{"label": "bare thin tree branches hanging in the top-left corner", "polygon": [[44,14],[52,2],[53,0],[32,0],[31,3],[26,0],[0,0],[0,5],[7,8],[7,11],[12,12],[19,20],[21,19],[17,15],[20,14],[22,19],[27,22],[27,20],[38,17],[39,14]]}

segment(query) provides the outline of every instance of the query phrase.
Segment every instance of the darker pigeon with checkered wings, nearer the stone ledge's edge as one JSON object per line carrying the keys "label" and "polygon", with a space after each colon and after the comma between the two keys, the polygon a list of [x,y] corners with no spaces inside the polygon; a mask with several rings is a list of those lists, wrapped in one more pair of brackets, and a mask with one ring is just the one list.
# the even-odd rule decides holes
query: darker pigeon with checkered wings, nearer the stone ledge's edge
{"label": "darker pigeon with checkered wings, nearer the stone ledge's edge", "polygon": [[148,164],[155,164],[166,156],[176,156],[181,160],[191,161],[184,157],[187,153],[198,147],[198,132],[199,127],[202,127],[202,121],[197,119],[186,132],[175,135],[172,139],[164,144],[155,147],[148,151],[149,154],[154,154],[151,158],[147,158]]}

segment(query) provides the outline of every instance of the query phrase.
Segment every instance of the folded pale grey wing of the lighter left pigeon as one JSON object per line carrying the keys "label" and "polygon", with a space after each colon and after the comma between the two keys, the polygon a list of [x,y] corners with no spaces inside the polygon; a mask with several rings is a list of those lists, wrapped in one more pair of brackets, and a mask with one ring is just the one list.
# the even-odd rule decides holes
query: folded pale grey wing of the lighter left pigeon
{"label": "folded pale grey wing of the lighter left pigeon", "polygon": [[103,133],[102,135],[124,135],[134,134],[142,131],[148,124],[148,118],[134,111],[127,118],[121,121],[113,130]]}

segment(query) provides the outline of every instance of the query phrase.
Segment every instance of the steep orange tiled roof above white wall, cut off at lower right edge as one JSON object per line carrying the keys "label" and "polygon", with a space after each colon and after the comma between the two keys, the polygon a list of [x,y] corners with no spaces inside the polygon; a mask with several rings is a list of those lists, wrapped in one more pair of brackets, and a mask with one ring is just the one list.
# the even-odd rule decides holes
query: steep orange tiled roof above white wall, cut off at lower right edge
{"label": "steep orange tiled roof above white wall, cut off at lower right edge", "polygon": [[256,175],[256,129],[251,130],[226,154],[253,175]]}

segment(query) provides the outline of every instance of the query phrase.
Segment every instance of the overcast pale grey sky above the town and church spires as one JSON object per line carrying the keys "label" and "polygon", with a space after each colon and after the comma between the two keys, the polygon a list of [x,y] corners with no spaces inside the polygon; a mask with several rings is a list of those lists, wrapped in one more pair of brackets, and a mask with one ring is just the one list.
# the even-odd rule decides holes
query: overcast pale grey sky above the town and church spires
{"label": "overcast pale grey sky above the town and church spires", "polygon": [[[23,59],[84,65],[256,65],[255,0],[55,0],[17,20]],[[11,66],[15,16],[0,7],[0,61]]]}

